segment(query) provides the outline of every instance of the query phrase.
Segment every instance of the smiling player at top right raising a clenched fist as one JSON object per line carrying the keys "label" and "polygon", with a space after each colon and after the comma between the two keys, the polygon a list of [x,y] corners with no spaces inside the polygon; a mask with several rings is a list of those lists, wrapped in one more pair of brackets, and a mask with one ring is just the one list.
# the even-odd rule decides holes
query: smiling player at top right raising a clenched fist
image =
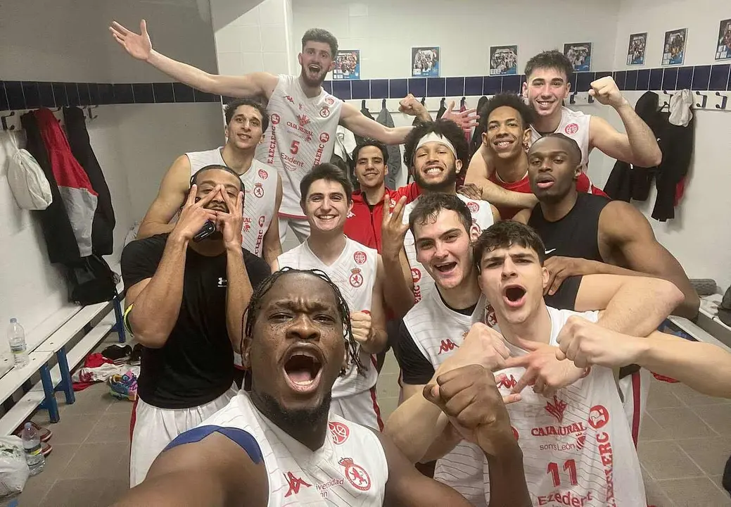
{"label": "smiling player at top right raising a clenched fist", "polygon": [[[622,97],[613,78],[607,76],[591,83],[589,95],[602,105],[617,111],[626,133],[617,132],[605,119],[570,110],[563,105],[571,92],[573,67],[558,50],[544,51],[526,64],[526,82],[523,96],[534,111],[531,124],[531,142],[542,135],[561,132],[576,140],[581,149],[583,171],[588,166],[591,150],[596,148],[608,157],[623,160],[640,167],[654,167],[662,160],[662,153],[650,127],[637,116],[629,102]],[[467,183],[482,187],[482,198],[496,206],[532,208],[534,196],[500,188],[490,181],[495,170],[492,146],[482,143],[480,157],[471,159],[466,175]]]}

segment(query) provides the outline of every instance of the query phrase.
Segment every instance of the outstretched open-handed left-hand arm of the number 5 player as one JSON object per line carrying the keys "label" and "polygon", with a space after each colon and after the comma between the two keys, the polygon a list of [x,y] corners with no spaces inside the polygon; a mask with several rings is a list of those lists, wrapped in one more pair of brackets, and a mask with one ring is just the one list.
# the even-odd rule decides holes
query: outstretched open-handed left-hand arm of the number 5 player
{"label": "outstretched open-handed left-hand arm of the number 5 player", "polygon": [[209,74],[203,70],[184,64],[158,53],[152,48],[147,23],[140,21],[140,34],[126,29],[113,21],[109,27],[112,37],[127,53],[138,60],[146,61],[157,70],[175,80],[186,83],[200,91],[228,97],[265,97],[269,99],[277,83],[276,75],[268,72],[253,72],[241,76]]}

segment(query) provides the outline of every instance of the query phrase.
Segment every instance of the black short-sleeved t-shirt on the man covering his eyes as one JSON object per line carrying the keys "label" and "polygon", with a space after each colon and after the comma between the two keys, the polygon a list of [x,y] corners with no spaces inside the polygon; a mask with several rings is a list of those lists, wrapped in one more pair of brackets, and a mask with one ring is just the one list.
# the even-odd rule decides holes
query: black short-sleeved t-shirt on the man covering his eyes
{"label": "black short-sleeved t-shirt on the man covering his eyes", "polygon": [[[139,239],[124,247],[125,288],[153,277],[167,236]],[[270,274],[268,264],[246,249],[243,262],[254,288]],[[231,387],[234,364],[226,328],[226,291],[226,254],[208,257],[189,248],[178,321],[162,348],[143,347],[137,393],[146,403],[192,408],[213,401]]]}

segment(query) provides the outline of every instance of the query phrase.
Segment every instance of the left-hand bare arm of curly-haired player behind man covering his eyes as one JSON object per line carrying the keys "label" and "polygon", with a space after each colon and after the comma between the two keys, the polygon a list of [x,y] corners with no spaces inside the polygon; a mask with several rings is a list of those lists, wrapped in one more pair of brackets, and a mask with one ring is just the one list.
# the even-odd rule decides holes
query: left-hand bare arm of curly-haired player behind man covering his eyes
{"label": "left-hand bare arm of curly-haired player behind man covering his eyes", "polygon": [[170,220],[183,206],[186,192],[189,189],[190,173],[190,160],[186,155],[181,155],[173,162],[162,179],[157,197],[140,224],[137,239],[169,233],[173,230],[175,224],[170,224]]}

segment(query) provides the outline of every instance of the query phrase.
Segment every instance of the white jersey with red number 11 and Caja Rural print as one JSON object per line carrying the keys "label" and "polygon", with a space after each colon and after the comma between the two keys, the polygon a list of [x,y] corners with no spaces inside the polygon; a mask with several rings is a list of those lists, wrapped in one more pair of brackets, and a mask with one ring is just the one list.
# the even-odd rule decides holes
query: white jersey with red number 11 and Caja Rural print
{"label": "white jersey with red number 11 and Caja Rural print", "polygon": [[[597,312],[548,308],[550,345],[572,315],[596,322]],[[511,356],[526,351],[508,344]],[[496,372],[507,375],[503,395],[525,368]],[[513,435],[523,451],[523,467],[536,506],[645,506],[645,487],[632,432],[624,416],[611,369],[594,366],[586,378],[560,389],[553,399],[523,389],[520,402],[507,406]],[[485,461],[485,494],[490,485]]]}

